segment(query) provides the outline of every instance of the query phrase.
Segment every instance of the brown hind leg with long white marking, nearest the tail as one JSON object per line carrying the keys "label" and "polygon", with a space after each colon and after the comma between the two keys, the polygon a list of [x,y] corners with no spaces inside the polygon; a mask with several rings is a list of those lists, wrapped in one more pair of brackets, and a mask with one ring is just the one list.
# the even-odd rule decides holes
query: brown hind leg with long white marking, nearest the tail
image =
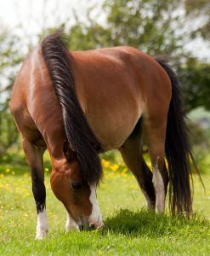
{"label": "brown hind leg with long white marking, nearest the tail", "polygon": [[165,211],[168,174],[165,164],[166,121],[162,119],[145,119],[143,132],[149,147],[153,170],[152,183],[156,191],[156,212]]}

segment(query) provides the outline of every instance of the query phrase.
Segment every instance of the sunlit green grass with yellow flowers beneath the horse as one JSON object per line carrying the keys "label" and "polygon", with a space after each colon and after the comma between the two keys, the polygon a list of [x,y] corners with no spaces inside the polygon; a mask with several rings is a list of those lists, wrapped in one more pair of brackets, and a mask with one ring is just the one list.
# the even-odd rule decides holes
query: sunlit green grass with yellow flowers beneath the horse
{"label": "sunlit green grass with yellow flowers beneath the horse", "polygon": [[27,166],[0,166],[0,255],[207,255],[210,252],[210,175],[206,195],[195,177],[190,221],[145,210],[145,199],[124,166],[103,161],[105,178],[98,200],[104,230],[65,234],[65,208],[49,185],[46,172],[49,233],[35,241],[37,213]]}

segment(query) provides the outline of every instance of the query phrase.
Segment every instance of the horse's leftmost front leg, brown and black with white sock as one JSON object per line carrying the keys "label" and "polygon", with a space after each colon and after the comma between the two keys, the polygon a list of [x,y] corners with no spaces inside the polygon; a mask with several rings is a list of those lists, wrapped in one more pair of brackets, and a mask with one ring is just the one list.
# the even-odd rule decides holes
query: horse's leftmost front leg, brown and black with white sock
{"label": "horse's leftmost front leg, brown and black with white sock", "polygon": [[43,153],[45,148],[37,148],[26,138],[23,138],[23,149],[31,167],[32,192],[37,207],[37,236],[42,240],[48,234],[48,219],[46,213],[46,189],[43,173]]}

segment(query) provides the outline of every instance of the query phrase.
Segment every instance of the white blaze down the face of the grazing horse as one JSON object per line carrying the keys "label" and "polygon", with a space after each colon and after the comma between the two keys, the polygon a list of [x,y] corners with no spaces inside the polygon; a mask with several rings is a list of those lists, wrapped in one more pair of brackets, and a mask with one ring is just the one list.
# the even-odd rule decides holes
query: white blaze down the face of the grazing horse
{"label": "white blaze down the face of the grazing horse", "polygon": [[101,228],[103,226],[103,221],[102,221],[102,215],[99,211],[99,204],[96,199],[96,186],[92,185],[90,186],[90,197],[89,200],[92,203],[92,213],[90,217],[88,218],[88,223],[89,225],[94,224],[97,228]]}

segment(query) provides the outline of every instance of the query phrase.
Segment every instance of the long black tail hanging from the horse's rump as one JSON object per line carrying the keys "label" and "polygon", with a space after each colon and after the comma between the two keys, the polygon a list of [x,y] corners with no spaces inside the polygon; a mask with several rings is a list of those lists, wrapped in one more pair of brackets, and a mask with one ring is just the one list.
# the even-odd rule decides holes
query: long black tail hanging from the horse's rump
{"label": "long black tail hanging from the horse's rump", "polygon": [[192,154],[188,130],[184,121],[184,109],[176,73],[162,58],[156,61],[167,72],[172,84],[172,99],[167,114],[166,157],[169,172],[169,207],[173,214],[192,212],[190,188],[191,164],[199,173]]}

